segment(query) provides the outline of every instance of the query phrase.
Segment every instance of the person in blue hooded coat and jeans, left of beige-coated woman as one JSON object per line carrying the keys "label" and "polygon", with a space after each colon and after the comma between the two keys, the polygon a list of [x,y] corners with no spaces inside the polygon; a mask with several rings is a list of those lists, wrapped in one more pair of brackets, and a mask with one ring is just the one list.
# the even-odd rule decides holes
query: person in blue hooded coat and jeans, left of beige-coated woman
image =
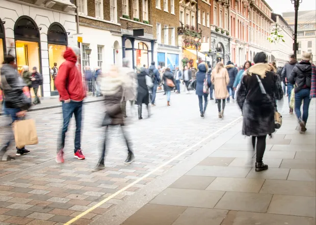
{"label": "person in blue hooded coat and jeans, left of beige-coated woman", "polygon": [[[207,85],[210,87],[210,77],[208,79],[208,66],[206,63],[200,63],[198,65],[198,72],[196,73],[196,90],[195,94],[198,96],[199,99],[199,109],[200,109],[200,116],[204,117],[205,110],[207,107],[208,102],[208,94],[203,92],[203,85],[204,80],[207,79]],[[204,107],[203,107],[203,98],[204,98]]]}

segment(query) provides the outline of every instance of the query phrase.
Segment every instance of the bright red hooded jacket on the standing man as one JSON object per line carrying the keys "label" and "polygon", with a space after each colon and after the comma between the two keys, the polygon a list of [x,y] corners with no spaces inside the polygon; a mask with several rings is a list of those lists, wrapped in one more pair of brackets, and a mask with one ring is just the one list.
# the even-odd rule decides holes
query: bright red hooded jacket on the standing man
{"label": "bright red hooded jacket on the standing man", "polygon": [[59,100],[82,101],[86,94],[81,72],[76,67],[77,57],[71,48],[67,48],[64,58],[66,61],[60,65],[55,79],[55,86],[60,95]]}

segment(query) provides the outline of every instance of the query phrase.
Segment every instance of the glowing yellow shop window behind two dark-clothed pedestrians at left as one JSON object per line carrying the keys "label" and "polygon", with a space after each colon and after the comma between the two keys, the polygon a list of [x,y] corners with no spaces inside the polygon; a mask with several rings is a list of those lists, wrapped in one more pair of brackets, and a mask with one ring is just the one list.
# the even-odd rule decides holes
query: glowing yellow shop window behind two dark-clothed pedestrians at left
{"label": "glowing yellow shop window behind two dark-clothed pedestrians at left", "polygon": [[[15,41],[16,64],[19,74],[23,72],[23,66],[29,68],[40,68],[39,65],[39,43],[29,41]],[[39,71],[40,72],[40,71]],[[41,96],[41,87],[38,89],[38,96]],[[32,97],[35,96],[33,89],[31,90]]]}

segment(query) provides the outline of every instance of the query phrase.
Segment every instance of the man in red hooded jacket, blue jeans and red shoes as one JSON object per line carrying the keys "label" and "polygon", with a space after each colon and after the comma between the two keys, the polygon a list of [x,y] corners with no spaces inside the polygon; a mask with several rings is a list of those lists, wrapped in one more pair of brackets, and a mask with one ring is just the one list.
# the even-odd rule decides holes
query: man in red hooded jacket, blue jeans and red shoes
{"label": "man in red hooded jacket, blue jeans and red shoes", "polygon": [[86,96],[82,81],[82,75],[76,63],[80,55],[78,47],[69,47],[64,52],[65,62],[63,62],[55,79],[55,86],[59,92],[59,100],[62,102],[63,110],[63,128],[58,140],[58,149],[56,162],[64,162],[64,146],[68,125],[72,115],[76,121],[76,131],[74,138],[74,157],[85,159],[81,150],[81,122],[82,122],[82,105]]}

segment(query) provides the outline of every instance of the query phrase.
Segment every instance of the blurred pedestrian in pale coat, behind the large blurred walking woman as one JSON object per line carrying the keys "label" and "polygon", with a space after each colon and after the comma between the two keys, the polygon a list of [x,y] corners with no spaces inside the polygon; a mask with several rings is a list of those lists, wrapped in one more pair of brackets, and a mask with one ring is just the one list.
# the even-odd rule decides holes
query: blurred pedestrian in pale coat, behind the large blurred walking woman
{"label": "blurred pedestrian in pale coat, behind the large blurred walking woman", "polygon": [[123,118],[126,118],[126,101],[129,101],[130,107],[132,108],[137,96],[137,74],[133,69],[129,68],[129,60],[123,58],[123,67],[119,70],[121,76],[124,79],[124,90],[122,100],[122,113]]}

